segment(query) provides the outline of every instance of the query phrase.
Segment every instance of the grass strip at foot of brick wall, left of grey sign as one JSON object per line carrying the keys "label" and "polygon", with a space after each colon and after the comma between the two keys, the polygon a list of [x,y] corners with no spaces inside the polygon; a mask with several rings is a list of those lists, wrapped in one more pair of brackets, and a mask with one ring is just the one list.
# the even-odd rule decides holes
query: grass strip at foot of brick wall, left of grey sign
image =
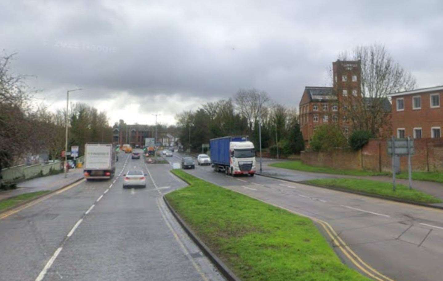
{"label": "grass strip at foot of brick wall, left of grey sign", "polygon": [[371,172],[371,171],[361,171],[361,170],[341,170],[329,167],[315,167],[303,164],[300,160],[286,161],[272,163],[269,166],[284,168],[297,171],[314,172],[314,173],[325,173],[325,174],[336,174],[336,175],[355,175],[355,176],[373,176],[373,175],[389,175],[385,172]]}

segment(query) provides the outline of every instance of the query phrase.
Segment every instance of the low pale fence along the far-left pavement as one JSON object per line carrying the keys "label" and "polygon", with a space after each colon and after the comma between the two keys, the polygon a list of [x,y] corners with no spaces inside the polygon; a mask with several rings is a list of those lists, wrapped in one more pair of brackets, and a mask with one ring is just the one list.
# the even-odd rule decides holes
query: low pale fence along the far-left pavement
{"label": "low pale fence along the far-left pavement", "polygon": [[48,175],[51,170],[60,171],[62,165],[60,161],[48,164],[35,164],[31,166],[19,165],[1,170],[3,179],[1,182],[19,181],[28,178],[34,178],[39,175]]}

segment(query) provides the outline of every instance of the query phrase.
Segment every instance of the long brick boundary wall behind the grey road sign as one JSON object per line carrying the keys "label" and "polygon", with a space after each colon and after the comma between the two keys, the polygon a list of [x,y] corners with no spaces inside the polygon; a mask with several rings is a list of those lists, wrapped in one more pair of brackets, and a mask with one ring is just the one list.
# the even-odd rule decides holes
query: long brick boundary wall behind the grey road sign
{"label": "long brick boundary wall behind the grey road sign", "polygon": [[[414,140],[415,154],[411,157],[413,171],[443,172],[443,138]],[[312,166],[368,171],[392,170],[386,140],[370,140],[359,151],[337,148],[331,152],[301,153],[303,163]],[[408,170],[407,157],[400,157],[400,171]]]}

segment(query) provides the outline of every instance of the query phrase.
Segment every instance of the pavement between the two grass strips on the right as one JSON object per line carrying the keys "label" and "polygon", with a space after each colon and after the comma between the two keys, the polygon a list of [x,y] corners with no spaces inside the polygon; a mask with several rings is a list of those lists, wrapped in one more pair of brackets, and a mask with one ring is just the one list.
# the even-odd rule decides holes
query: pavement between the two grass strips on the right
{"label": "pavement between the two grass strips on the right", "polygon": [[[272,176],[276,178],[286,179],[295,182],[306,181],[310,179],[316,178],[361,178],[361,179],[369,179],[380,182],[391,182],[391,176],[353,176],[353,175],[331,175],[325,173],[312,173],[305,171],[295,171],[290,169],[276,168],[271,167],[268,164],[276,163],[278,161],[273,160],[263,164],[263,171],[258,173],[259,175],[264,176]],[[396,178],[396,183],[401,183],[406,186],[409,186],[409,181],[407,179]],[[412,188],[415,190],[423,191],[427,194],[431,194],[435,197],[439,197],[443,200],[443,184],[439,182],[427,182],[427,181],[412,181]],[[431,204],[443,206],[443,203]]]}

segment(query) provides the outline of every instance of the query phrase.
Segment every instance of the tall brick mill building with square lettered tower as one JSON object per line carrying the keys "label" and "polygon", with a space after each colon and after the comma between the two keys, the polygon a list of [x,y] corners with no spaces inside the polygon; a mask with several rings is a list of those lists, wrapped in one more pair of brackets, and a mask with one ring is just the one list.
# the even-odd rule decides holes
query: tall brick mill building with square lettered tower
{"label": "tall brick mill building with square lettered tower", "polygon": [[306,144],[317,125],[337,123],[346,135],[350,123],[347,106],[361,99],[360,61],[335,61],[332,63],[333,87],[305,87],[299,103],[300,127]]}

